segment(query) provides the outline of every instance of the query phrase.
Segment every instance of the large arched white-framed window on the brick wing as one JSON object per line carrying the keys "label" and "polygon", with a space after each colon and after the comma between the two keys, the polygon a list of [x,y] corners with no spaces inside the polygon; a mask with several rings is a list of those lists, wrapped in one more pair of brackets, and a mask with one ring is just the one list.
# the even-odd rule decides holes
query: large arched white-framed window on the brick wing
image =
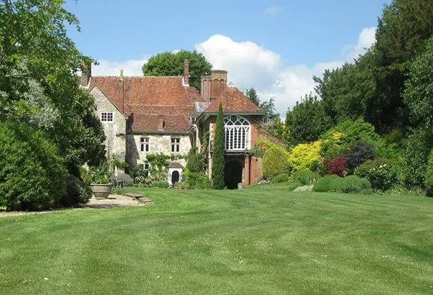
{"label": "large arched white-framed window on the brick wing", "polygon": [[225,150],[244,151],[250,149],[251,125],[242,116],[224,117]]}

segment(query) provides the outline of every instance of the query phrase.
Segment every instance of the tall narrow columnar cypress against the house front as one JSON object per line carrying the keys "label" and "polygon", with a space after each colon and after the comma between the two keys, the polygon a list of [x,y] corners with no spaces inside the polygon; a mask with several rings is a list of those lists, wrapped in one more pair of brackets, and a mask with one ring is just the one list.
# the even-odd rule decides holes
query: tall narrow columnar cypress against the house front
{"label": "tall narrow columnar cypress against the house front", "polygon": [[218,107],[218,115],[215,124],[215,141],[213,144],[212,154],[212,183],[215,190],[223,190],[224,183],[224,116],[223,105]]}

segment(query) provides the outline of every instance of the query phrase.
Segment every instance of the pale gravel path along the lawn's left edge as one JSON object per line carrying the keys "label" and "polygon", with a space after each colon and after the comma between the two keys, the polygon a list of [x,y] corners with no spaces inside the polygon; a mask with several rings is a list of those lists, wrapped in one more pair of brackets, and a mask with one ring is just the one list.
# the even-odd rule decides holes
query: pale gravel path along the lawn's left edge
{"label": "pale gravel path along the lawn's left edge", "polygon": [[96,199],[95,197],[91,197],[89,202],[84,205],[83,208],[61,208],[54,209],[50,211],[38,211],[38,212],[23,212],[23,211],[14,211],[14,212],[0,212],[0,217],[7,216],[18,216],[18,215],[26,215],[26,214],[45,214],[50,212],[56,212],[61,210],[81,210],[81,209],[107,209],[107,208],[118,208],[118,207],[133,207],[133,206],[152,206],[153,202],[147,197],[142,197],[140,201],[133,197],[127,197],[123,195],[109,195],[108,199]]}

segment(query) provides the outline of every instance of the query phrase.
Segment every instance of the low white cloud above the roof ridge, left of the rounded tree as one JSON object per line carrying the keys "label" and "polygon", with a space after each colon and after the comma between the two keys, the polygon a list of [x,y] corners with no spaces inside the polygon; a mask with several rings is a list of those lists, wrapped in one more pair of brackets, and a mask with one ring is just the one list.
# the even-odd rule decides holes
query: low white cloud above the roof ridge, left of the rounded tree
{"label": "low white cloud above the roof ridge, left of the rounded tree", "polygon": [[141,59],[130,59],[125,62],[112,62],[106,59],[99,60],[97,66],[92,66],[91,74],[93,76],[119,76],[120,70],[123,69],[124,76],[142,76],[142,66],[147,62],[149,57]]}

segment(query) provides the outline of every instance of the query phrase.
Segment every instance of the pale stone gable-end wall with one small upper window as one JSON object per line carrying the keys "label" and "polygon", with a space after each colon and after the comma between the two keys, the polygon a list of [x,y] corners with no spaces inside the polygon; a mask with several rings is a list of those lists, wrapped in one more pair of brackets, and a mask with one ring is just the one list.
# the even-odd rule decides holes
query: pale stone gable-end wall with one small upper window
{"label": "pale stone gable-end wall with one small upper window", "polygon": [[98,87],[94,87],[90,94],[94,96],[96,110],[95,115],[101,120],[101,112],[113,112],[113,122],[101,122],[106,135],[106,156],[111,158],[113,154],[118,156],[120,161],[125,161],[126,156],[126,117],[111,100],[109,100]]}

